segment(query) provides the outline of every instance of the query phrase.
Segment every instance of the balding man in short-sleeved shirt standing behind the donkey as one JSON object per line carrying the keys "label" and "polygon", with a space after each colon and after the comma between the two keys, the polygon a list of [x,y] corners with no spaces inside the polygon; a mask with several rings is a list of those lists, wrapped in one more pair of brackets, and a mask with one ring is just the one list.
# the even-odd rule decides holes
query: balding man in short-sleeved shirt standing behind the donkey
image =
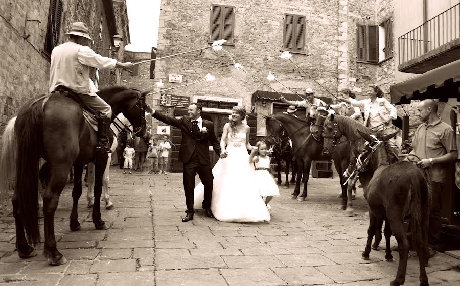
{"label": "balding man in short-sleeved shirt standing behind the donkey", "polygon": [[457,159],[457,146],[453,129],[438,117],[438,103],[431,99],[420,102],[418,106],[422,123],[412,139],[410,154],[419,156],[420,168],[429,168],[431,176],[432,202],[429,218],[428,243],[430,257],[436,251],[441,234],[441,191],[447,182],[446,168]]}

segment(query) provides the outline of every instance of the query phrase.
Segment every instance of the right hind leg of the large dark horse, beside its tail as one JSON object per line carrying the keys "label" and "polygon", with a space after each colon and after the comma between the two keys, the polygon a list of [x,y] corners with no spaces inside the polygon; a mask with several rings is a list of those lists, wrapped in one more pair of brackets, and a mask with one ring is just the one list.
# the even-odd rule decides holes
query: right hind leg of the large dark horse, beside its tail
{"label": "right hind leg of the large dark horse, beside its tail", "polygon": [[[53,168],[54,167],[54,168]],[[61,265],[67,259],[57,250],[56,238],[54,235],[54,213],[59,203],[59,196],[67,183],[69,166],[51,166],[50,183],[43,195],[43,215],[44,215],[44,256],[47,257],[48,264]]]}

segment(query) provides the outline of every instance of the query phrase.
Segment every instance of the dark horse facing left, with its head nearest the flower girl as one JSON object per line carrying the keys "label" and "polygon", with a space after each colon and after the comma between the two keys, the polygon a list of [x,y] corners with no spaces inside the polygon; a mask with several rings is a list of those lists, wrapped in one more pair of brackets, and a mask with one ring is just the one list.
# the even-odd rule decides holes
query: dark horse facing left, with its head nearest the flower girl
{"label": "dark horse facing left, with its head nearest the flower girl", "polygon": [[[297,198],[297,201],[304,201],[307,197],[310,167],[311,162],[314,160],[328,160],[332,158],[335,168],[339,173],[340,182],[343,181],[343,171],[347,169],[350,161],[350,146],[342,145],[331,155],[323,155],[321,152],[323,150],[322,142],[312,136],[310,125],[305,121],[288,114],[275,114],[265,116],[264,118],[267,128],[265,141],[269,145],[273,146],[280,140],[283,130],[292,140],[292,149],[298,164],[297,181],[294,192],[291,195],[292,199]],[[302,175],[305,183],[304,190],[299,196]],[[346,187],[343,186],[343,183],[341,183],[341,188],[342,192],[346,192]],[[342,201],[342,203],[344,203],[344,201]]]}

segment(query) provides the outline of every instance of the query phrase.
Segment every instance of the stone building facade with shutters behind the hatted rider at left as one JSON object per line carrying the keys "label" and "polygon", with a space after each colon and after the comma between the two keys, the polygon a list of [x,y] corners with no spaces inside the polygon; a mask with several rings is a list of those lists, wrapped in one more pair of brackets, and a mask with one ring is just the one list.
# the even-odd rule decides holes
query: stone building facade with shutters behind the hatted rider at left
{"label": "stone building facade with shutters behind the hatted rider at left", "polygon": [[[129,43],[125,0],[2,1],[0,16],[0,134],[22,104],[48,92],[51,50],[67,41],[73,22],[88,25],[91,47],[103,56],[121,60]],[[114,49],[117,33],[120,49]],[[99,88],[121,84],[120,71],[92,70],[90,77]]]}

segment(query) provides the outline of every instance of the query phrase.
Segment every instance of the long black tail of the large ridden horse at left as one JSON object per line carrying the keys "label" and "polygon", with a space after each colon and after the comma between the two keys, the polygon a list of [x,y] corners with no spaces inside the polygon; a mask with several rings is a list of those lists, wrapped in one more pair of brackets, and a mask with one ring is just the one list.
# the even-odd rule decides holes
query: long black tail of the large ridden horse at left
{"label": "long black tail of the large ridden horse at left", "polygon": [[29,243],[41,241],[38,228],[38,168],[43,150],[41,102],[21,108],[14,130],[17,139],[16,192]]}

